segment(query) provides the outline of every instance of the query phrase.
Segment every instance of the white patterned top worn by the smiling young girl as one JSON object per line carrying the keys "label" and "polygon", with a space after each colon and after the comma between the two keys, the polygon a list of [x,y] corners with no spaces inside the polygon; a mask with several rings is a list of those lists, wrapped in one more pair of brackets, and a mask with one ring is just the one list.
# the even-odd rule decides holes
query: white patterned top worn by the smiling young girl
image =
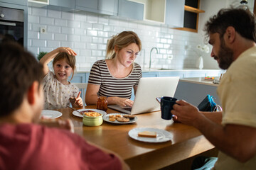
{"label": "white patterned top worn by the smiling young girl", "polygon": [[54,110],[70,106],[69,98],[78,96],[79,89],[73,84],[60,83],[53,72],[49,71],[43,78],[43,93],[45,95],[44,109]]}

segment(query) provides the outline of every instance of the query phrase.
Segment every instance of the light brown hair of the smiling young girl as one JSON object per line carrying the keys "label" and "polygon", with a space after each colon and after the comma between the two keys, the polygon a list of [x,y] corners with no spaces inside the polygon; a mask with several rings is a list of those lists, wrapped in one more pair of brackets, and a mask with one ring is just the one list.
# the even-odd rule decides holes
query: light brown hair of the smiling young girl
{"label": "light brown hair of the smiling young girl", "polygon": [[59,52],[58,55],[56,55],[56,57],[54,57],[53,59],[53,67],[54,67],[54,64],[60,60],[65,60],[65,62],[67,62],[70,65],[70,67],[73,69],[73,74],[70,79],[72,80],[74,76],[74,70],[75,70],[75,56],[69,55],[67,52]]}

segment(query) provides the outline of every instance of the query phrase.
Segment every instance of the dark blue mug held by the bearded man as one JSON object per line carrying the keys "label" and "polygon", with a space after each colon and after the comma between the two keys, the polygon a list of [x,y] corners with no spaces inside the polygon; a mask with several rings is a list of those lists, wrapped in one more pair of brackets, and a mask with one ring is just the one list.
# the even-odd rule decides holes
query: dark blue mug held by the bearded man
{"label": "dark blue mug held by the bearded man", "polygon": [[171,120],[172,114],[171,110],[173,109],[174,104],[177,101],[177,98],[163,96],[161,98],[157,98],[161,106],[161,118],[165,120]]}

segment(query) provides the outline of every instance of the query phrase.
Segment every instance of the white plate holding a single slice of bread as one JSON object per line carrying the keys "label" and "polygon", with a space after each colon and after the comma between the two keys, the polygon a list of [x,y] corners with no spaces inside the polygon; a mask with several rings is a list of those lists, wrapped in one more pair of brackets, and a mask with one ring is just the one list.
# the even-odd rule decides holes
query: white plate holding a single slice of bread
{"label": "white plate holding a single slice of bread", "polygon": [[[139,137],[138,133],[143,131],[156,132],[157,133],[156,138]],[[129,137],[132,137],[132,139],[139,140],[142,142],[158,143],[158,142],[166,142],[166,141],[172,140],[172,135],[170,132],[167,132],[166,130],[155,129],[155,128],[134,128],[130,130],[128,134],[129,134]]]}

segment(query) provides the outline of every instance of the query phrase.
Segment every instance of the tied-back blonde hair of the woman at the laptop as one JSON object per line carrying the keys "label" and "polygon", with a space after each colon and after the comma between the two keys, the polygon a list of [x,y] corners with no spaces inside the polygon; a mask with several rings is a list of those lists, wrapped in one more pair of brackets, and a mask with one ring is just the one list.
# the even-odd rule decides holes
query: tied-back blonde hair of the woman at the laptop
{"label": "tied-back blonde hair of the woman at the laptop", "polygon": [[142,42],[137,33],[134,33],[133,31],[123,31],[122,33],[114,35],[110,40],[107,41],[106,59],[113,59],[116,56],[114,46],[116,46],[118,50],[121,50],[132,43],[138,45],[139,51],[142,50]]}

